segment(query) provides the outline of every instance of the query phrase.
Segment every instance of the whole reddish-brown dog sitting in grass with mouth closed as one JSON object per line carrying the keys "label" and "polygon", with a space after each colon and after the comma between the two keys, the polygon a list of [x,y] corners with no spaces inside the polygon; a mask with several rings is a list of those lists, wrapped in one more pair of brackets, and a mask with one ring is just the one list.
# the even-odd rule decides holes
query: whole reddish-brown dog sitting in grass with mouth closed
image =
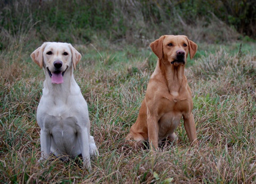
{"label": "whole reddish-brown dog sitting in grass with mouth closed", "polygon": [[184,68],[187,55],[190,52],[192,59],[198,46],[186,36],[165,35],[153,41],[150,47],[158,57],[157,66],[150,77],[138,119],[126,140],[149,140],[155,148],[165,138],[174,141],[174,131],[183,116],[190,142],[197,143],[193,101]]}

